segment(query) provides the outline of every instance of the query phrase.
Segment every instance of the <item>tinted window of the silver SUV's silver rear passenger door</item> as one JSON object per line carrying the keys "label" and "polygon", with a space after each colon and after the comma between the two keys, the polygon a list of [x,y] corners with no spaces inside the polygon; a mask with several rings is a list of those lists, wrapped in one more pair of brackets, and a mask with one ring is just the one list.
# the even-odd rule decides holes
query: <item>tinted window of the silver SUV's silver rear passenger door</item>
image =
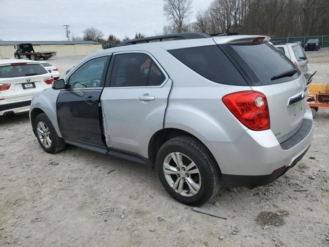
{"label": "tinted window of the silver SUV's silver rear passenger door", "polygon": [[152,58],[142,53],[118,54],[115,57],[110,86],[159,86],[165,81]]}

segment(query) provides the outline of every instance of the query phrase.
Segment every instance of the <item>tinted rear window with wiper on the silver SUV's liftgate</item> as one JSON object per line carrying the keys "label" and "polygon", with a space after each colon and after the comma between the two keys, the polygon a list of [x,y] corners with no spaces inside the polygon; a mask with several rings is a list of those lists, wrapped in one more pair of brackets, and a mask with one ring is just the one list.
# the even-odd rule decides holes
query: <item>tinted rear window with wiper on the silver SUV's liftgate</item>
{"label": "tinted rear window with wiper on the silver SUV's liftgate", "polygon": [[[232,49],[258,77],[262,85],[282,83],[297,79],[299,70],[280,50],[267,42],[230,44]],[[297,69],[293,76],[272,80],[273,77],[282,75],[289,70]]]}

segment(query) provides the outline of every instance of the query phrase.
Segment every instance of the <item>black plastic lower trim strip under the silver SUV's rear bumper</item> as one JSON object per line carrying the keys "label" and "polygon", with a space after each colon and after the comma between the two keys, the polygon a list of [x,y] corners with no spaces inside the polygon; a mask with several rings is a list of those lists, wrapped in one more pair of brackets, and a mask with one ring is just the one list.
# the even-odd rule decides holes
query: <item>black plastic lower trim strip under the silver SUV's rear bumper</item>
{"label": "black plastic lower trim strip under the silver SUV's rear bumper", "polygon": [[[309,147],[308,147],[309,148]],[[265,184],[269,184],[279,177],[281,177],[284,173],[287,172],[290,168],[293,168],[305,155],[308,148],[299,155],[290,166],[285,167],[284,169],[276,172],[271,173],[268,175],[257,175],[257,176],[250,176],[250,175],[231,175],[231,174],[222,174],[222,183],[223,186],[232,188],[232,187],[240,187],[240,186],[247,186],[247,187],[257,187],[262,186]]]}

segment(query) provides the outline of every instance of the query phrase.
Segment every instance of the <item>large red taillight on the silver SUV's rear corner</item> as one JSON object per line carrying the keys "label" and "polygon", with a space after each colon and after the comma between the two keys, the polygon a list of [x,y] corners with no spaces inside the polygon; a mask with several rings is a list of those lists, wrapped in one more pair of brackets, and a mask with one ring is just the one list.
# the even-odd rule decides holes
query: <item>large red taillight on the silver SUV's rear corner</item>
{"label": "large red taillight on the silver SUV's rear corner", "polygon": [[241,91],[225,95],[223,102],[230,112],[251,130],[270,128],[266,96],[257,91]]}

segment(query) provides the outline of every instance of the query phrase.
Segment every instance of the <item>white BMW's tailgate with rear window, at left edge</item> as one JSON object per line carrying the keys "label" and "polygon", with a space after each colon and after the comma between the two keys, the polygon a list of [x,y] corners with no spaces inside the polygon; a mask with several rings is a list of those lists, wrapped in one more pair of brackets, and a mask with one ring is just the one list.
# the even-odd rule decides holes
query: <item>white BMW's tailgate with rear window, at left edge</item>
{"label": "white BMW's tailgate with rear window, at left edge", "polygon": [[40,63],[11,63],[0,66],[0,84],[8,84],[9,89],[1,91],[7,101],[30,100],[50,84],[47,70]]}

